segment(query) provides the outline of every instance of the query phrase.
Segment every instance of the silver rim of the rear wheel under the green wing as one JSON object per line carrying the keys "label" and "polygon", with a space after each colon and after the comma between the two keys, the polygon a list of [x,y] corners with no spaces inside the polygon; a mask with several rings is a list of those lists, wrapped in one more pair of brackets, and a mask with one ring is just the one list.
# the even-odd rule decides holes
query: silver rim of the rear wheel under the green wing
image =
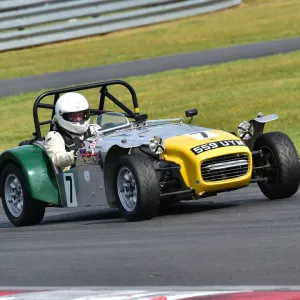
{"label": "silver rim of the rear wheel under the green wing", "polygon": [[18,218],[23,211],[24,197],[23,189],[18,177],[9,174],[4,183],[5,203],[10,213]]}

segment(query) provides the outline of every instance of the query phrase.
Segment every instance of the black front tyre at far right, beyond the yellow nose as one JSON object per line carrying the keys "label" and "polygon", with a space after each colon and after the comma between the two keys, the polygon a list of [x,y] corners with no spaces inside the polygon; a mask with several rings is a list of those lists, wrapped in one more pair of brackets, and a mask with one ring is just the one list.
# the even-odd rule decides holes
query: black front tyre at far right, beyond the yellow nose
{"label": "black front tyre at far right, beyond the yellow nose", "polygon": [[263,157],[254,162],[265,166],[259,172],[266,182],[259,182],[263,194],[269,199],[293,196],[299,188],[300,164],[291,139],[282,132],[270,132],[257,138],[254,150],[262,150]]}

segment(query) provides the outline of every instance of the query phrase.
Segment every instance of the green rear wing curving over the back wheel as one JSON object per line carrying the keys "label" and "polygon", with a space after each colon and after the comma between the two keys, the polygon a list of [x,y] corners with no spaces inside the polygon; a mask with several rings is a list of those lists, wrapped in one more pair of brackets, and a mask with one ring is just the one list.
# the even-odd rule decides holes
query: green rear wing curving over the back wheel
{"label": "green rear wing curving over the back wheel", "polygon": [[24,145],[2,152],[0,174],[7,163],[15,163],[22,170],[32,199],[61,206],[53,166],[41,147]]}

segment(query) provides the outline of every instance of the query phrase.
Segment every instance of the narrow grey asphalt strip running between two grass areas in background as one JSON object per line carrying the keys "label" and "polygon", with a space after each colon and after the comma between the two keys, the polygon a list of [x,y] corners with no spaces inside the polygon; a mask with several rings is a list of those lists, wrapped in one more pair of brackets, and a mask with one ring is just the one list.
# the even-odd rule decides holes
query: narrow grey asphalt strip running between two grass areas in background
{"label": "narrow grey asphalt strip running between two grass areas in background", "polygon": [[300,50],[300,37],[135,60],[75,71],[0,80],[0,97],[95,81],[141,76],[167,70],[225,63],[239,59],[258,58],[296,50]]}

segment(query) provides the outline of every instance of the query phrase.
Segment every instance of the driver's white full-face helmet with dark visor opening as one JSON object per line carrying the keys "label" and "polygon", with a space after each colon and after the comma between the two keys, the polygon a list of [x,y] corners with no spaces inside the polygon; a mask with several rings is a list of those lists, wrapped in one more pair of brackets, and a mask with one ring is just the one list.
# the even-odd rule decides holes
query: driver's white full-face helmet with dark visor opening
{"label": "driver's white full-face helmet with dark visor opening", "polygon": [[62,95],[55,105],[55,119],[62,128],[72,133],[85,133],[90,125],[90,109],[86,98],[74,92]]}

